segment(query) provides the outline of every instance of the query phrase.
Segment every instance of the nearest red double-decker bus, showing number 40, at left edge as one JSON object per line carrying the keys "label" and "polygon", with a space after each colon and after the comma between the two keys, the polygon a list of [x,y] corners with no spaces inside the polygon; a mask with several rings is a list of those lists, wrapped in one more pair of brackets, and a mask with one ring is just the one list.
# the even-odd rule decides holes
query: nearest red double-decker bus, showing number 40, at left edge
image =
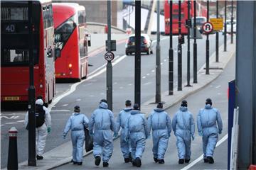
{"label": "nearest red double-decker bus, showing number 40, at left edge", "polygon": [[[33,60],[36,96],[55,94],[51,1],[33,1]],[[28,1],[1,1],[1,101],[28,101]]]}

